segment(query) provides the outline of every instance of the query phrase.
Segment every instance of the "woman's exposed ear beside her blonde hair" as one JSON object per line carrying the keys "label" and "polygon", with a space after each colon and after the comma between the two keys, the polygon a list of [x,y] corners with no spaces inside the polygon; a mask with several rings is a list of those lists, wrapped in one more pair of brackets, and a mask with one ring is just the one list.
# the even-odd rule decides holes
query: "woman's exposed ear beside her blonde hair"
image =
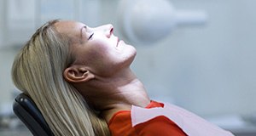
{"label": "woman's exposed ear beside her blonde hair", "polygon": [[63,72],[63,77],[67,82],[88,82],[90,79],[95,78],[95,75],[88,71],[85,66],[72,65],[67,67]]}

